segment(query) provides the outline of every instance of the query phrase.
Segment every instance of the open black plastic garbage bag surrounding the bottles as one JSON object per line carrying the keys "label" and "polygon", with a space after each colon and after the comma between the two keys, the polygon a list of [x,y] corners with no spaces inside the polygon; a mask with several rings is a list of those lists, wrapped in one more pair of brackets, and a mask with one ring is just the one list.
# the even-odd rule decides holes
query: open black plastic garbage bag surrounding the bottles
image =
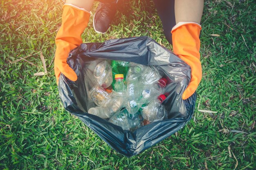
{"label": "open black plastic garbage bag surrounding the bottles", "polygon": [[[98,60],[122,60],[161,68],[169,82],[166,86],[168,96],[162,103],[168,112],[168,119],[130,131],[88,114],[88,109],[95,107],[95,104],[89,96],[92,77],[87,74],[87,67]],[[183,128],[193,115],[196,94],[189,99],[182,99],[191,78],[190,66],[151,38],[121,38],[81,44],[70,52],[67,63],[76,72],[78,79],[72,82],[61,74],[58,89],[64,108],[127,157],[137,155],[171,136]]]}

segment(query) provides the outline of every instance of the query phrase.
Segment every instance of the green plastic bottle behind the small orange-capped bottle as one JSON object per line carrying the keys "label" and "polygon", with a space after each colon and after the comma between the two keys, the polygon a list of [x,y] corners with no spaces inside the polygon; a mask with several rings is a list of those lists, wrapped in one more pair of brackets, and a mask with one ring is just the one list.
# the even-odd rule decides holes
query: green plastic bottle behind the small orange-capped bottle
{"label": "green plastic bottle behind the small orange-capped bottle", "polygon": [[126,75],[129,69],[129,62],[124,61],[118,61],[118,60],[112,60],[111,61],[112,66],[112,76],[113,76],[113,82],[112,82],[112,88],[115,90],[115,75],[116,74],[123,74],[124,75],[124,81],[126,79]]}

